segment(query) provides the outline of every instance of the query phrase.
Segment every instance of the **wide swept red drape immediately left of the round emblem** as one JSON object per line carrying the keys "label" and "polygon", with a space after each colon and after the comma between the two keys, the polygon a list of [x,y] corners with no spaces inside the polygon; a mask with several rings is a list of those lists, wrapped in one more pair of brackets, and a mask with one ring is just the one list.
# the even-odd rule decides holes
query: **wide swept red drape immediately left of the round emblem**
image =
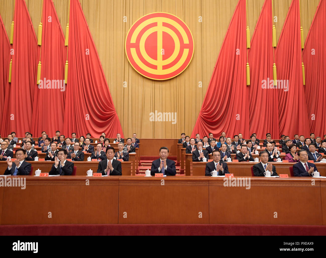
{"label": "wide swept red drape immediately left of the round emblem", "polygon": [[64,132],[102,132],[115,138],[123,132],[106,82],[96,47],[78,0],[70,0],[68,40],[67,95],[65,103]]}

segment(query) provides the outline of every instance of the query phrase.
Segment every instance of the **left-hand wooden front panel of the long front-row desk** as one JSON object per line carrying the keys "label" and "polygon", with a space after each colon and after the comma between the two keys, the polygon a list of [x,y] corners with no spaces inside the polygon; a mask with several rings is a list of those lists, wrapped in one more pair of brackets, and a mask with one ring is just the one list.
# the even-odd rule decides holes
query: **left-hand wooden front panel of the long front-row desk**
{"label": "left-hand wooden front panel of the long front-row desk", "polygon": [[117,224],[118,195],[114,176],[27,176],[26,189],[5,187],[1,224]]}

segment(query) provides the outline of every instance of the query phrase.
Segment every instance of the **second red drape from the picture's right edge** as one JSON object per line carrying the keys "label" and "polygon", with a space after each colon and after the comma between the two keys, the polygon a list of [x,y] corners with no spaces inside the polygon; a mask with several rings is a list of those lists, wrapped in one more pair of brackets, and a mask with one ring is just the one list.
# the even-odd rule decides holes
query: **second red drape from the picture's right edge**
{"label": "second red drape from the picture's right edge", "polygon": [[[289,90],[278,89],[279,133],[309,136],[309,120],[302,78],[300,3],[292,0],[275,50],[277,79],[289,80]],[[278,84],[278,87],[281,85]]]}

